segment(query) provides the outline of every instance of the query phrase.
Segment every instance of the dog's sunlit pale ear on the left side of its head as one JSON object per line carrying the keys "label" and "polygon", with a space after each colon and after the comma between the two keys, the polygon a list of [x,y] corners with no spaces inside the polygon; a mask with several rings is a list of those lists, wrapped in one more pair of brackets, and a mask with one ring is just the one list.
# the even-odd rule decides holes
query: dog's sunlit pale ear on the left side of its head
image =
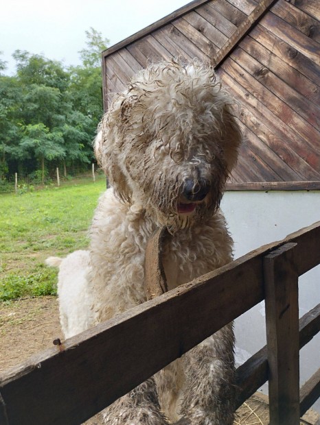
{"label": "dog's sunlit pale ear on the left side of its head", "polygon": [[94,141],[95,158],[103,169],[111,184],[115,195],[123,202],[130,204],[131,191],[128,187],[126,177],[122,172],[117,160],[117,147],[115,146],[115,134],[105,125],[104,119],[100,123],[100,128]]}

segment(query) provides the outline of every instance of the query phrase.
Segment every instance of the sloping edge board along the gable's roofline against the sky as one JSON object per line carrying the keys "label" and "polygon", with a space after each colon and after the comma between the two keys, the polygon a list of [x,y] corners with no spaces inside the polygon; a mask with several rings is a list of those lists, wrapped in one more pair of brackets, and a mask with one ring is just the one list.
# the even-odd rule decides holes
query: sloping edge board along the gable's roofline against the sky
{"label": "sloping edge board along the gable's roofline against the sky", "polygon": [[207,1],[208,0],[191,1],[190,3],[183,6],[182,8],[179,8],[178,10],[172,12],[171,14],[168,14],[168,16],[165,16],[163,19],[160,19],[159,21],[152,23],[152,25],[148,25],[148,27],[141,29],[141,31],[137,32],[136,34],[133,34],[133,36],[130,36],[126,38],[125,40],[118,42],[114,46],[108,47],[108,49],[102,53],[102,56],[106,58],[106,56],[111,55],[113,52],[119,49],[122,49],[123,47],[127,47],[128,45],[139,40],[140,38],[144,38],[145,36],[148,36],[149,34],[156,31],[157,29],[160,29],[161,27],[168,25],[168,23],[171,23],[172,21],[174,21],[174,19],[180,18],[185,13],[190,12],[191,10],[194,10],[198,6],[202,5],[203,3],[207,3]]}

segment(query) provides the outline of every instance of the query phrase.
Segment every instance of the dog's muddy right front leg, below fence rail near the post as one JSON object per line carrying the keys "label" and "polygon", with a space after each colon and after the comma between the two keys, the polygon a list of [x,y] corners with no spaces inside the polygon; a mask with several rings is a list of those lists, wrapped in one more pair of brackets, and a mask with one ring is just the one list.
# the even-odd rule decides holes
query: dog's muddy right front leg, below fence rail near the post
{"label": "dog's muddy right front leg, below fence rail near the post", "polygon": [[182,424],[233,424],[233,344],[233,328],[229,324],[185,354]]}

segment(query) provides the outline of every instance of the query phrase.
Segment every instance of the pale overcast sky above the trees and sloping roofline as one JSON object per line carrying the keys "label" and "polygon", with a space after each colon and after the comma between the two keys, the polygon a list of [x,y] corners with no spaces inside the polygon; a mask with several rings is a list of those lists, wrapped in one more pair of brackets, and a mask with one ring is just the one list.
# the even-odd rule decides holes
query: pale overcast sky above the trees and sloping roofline
{"label": "pale overcast sky above the trees and sloping roofline", "polygon": [[66,65],[79,64],[85,31],[97,29],[110,46],[181,8],[190,0],[2,0],[1,58],[14,73],[16,49],[43,53]]}

